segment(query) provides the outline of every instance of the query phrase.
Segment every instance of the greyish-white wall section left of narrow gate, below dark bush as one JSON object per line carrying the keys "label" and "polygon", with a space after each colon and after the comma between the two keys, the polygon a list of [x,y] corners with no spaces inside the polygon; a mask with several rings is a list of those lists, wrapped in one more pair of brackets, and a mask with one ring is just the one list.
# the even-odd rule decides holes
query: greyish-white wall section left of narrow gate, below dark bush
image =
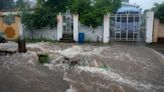
{"label": "greyish-white wall section left of narrow gate, below dark bush", "polygon": [[[31,38],[32,32],[24,29],[25,38]],[[34,39],[49,39],[49,40],[57,40],[57,28],[44,27],[38,30],[33,31]]]}

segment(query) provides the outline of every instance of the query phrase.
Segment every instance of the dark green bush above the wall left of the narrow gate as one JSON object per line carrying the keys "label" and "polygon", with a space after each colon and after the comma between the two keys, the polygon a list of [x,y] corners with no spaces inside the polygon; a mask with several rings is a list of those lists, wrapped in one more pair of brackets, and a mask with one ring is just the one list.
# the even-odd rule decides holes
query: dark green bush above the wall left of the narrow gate
{"label": "dark green bush above the wall left of the narrow gate", "polygon": [[54,27],[56,24],[56,13],[51,12],[48,7],[37,8],[33,12],[23,12],[22,22],[30,30],[45,26]]}

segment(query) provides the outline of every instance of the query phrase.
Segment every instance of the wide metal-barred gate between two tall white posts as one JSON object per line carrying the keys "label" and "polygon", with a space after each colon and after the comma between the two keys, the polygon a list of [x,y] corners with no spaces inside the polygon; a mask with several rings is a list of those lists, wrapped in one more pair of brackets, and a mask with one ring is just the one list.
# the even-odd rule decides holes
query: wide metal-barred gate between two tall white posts
{"label": "wide metal-barred gate between two tall white posts", "polygon": [[110,40],[145,41],[146,18],[143,14],[110,16]]}

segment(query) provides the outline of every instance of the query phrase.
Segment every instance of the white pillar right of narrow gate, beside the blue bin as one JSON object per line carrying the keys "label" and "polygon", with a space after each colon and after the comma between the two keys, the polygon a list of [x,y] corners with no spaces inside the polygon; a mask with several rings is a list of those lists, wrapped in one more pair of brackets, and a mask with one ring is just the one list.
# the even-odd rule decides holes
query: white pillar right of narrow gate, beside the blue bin
{"label": "white pillar right of narrow gate, beside the blue bin", "polygon": [[79,16],[78,14],[73,15],[73,39],[74,41],[78,41],[78,33],[79,33]]}

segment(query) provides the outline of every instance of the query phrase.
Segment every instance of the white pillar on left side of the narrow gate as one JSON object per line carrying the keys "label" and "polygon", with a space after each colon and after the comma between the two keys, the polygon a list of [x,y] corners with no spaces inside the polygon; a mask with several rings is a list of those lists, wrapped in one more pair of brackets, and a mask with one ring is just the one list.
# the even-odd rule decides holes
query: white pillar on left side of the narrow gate
{"label": "white pillar on left side of the narrow gate", "polygon": [[63,16],[61,13],[57,16],[57,40],[60,41],[63,34]]}

